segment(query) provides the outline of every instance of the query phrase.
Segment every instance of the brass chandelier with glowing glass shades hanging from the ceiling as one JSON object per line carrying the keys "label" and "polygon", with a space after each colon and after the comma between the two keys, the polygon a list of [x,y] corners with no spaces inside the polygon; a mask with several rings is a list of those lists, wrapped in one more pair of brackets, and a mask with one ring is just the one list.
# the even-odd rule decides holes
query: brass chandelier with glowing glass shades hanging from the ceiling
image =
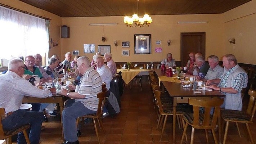
{"label": "brass chandelier with glowing glass shades hanging from the ceiling", "polygon": [[137,14],[133,14],[133,17],[125,16],[123,19],[123,22],[128,27],[144,27],[149,26],[149,24],[152,22],[151,17],[149,17],[148,14],[144,14],[143,18],[139,18],[139,0],[137,0]]}

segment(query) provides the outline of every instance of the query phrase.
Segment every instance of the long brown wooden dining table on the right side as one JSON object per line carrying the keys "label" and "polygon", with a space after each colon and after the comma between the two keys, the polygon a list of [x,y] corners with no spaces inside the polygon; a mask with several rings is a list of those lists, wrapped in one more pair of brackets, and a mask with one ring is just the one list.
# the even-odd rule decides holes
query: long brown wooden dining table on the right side
{"label": "long brown wooden dining table on the right side", "polygon": [[[158,79],[164,77],[166,74],[164,71],[160,69],[155,70]],[[169,78],[169,77],[168,77]],[[162,78],[160,81],[160,85],[162,87],[162,93],[167,91],[167,93],[172,98],[173,102],[173,120],[176,120],[176,106],[178,103],[188,103],[188,99],[199,99],[199,100],[212,100],[212,99],[220,99],[225,96],[225,94],[216,90],[202,90],[197,87],[197,90],[193,90],[193,87],[183,87],[184,85],[180,84],[180,80],[175,79],[176,77],[172,77],[170,79]],[[164,79],[164,80],[163,80]],[[168,81],[170,80],[170,81]],[[221,144],[221,118],[218,117],[218,125],[219,125],[219,143]],[[172,135],[173,135],[173,143],[175,143],[175,127],[176,122],[172,122]]]}

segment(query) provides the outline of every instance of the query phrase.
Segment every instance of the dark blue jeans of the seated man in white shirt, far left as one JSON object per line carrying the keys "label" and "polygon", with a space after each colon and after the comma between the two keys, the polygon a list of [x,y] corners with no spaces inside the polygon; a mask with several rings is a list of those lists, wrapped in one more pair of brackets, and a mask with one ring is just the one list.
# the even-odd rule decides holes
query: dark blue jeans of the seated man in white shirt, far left
{"label": "dark blue jeans of the seated man in white shirt, far left", "polygon": [[[23,125],[30,123],[30,132],[28,133],[31,144],[39,144],[42,121],[44,114],[42,112],[30,112],[18,109],[10,116],[2,120],[3,129],[8,131],[17,129]],[[23,132],[18,134],[18,144],[26,144]]]}

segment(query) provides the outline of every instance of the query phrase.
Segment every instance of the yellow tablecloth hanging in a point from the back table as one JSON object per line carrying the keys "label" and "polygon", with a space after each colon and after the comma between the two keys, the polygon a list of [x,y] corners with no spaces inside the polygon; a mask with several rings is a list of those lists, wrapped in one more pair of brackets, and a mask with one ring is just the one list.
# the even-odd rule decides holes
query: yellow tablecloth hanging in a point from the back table
{"label": "yellow tablecloth hanging in a point from the back table", "polygon": [[126,84],[129,84],[133,78],[138,75],[140,72],[149,72],[150,69],[131,69],[128,71],[128,69],[117,69],[118,72],[122,72],[122,79]]}

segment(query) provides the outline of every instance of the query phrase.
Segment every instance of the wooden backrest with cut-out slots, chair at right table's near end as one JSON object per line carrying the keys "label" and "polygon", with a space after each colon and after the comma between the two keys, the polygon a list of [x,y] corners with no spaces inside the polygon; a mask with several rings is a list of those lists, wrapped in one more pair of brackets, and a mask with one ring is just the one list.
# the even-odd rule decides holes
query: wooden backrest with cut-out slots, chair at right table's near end
{"label": "wooden backrest with cut-out slots, chair at right table's near end", "polygon": [[[217,124],[217,118],[220,116],[220,105],[223,104],[224,99],[217,100],[197,100],[188,99],[188,103],[193,105],[193,127],[199,129],[212,129]],[[202,117],[199,116],[199,108],[204,107],[205,111]],[[210,112],[212,107],[214,107],[214,114],[211,116]],[[202,121],[202,123],[200,122]]]}

